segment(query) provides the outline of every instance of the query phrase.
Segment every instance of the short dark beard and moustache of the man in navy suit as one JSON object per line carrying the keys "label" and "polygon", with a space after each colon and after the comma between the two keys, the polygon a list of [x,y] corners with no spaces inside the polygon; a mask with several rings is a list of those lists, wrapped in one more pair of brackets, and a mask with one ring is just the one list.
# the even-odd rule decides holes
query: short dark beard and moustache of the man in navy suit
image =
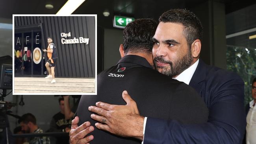
{"label": "short dark beard and moustache of the man in navy suit", "polygon": [[[156,65],[157,61],[161,63],[168,63],[170,66],[157,66]],[[156,67],[156,70],[158,70],[158,72],[165,74],[167,76],[174,77],[181,74],[184,70],[189,68],[192,61],[193,61],[193,57],[191,54],[191,50],[189,48],[187,54],[184,57],[182,57],[181,59],[177,59],[174,62],[167,61],[163,59],[162,56],[155,57],[154,65]]]}

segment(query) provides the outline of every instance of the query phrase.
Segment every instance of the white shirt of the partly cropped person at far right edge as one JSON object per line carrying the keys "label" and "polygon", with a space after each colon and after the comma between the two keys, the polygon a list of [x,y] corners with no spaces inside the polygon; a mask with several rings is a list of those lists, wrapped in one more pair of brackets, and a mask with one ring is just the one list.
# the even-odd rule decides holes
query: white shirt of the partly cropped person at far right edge
{"label": "white shirt of the partly cropped person at far right edge", "polygon": [[250,109],[246,117],[246,144],[256,144],[256,105],[252,100],[249,105]]}

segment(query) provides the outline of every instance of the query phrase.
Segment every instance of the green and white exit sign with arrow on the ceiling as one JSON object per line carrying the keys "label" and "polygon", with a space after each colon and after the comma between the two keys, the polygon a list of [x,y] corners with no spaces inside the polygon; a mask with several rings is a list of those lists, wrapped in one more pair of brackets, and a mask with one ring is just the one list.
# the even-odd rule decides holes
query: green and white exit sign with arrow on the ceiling
{"label": "green and white exit sign with arrow on the ceiling", "polygon": [[132,22],[134,20],[133,17],[122,17],[122,16],[116,16],[113,20],[113,25],[115,28],[124,28],[127,24]]}

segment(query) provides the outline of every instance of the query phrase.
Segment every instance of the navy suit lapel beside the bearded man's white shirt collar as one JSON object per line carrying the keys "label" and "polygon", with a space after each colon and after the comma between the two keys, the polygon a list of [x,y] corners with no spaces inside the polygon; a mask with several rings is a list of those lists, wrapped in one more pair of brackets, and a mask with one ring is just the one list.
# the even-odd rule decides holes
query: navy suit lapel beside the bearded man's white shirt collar
{"label": "navy suit lapel beside the bearded man's white shirt collar", "polygon": [[206,79],[206,64],[199,59],[197,68],[189,82],[189,86],[193,87],[202,96],[203,81]]}

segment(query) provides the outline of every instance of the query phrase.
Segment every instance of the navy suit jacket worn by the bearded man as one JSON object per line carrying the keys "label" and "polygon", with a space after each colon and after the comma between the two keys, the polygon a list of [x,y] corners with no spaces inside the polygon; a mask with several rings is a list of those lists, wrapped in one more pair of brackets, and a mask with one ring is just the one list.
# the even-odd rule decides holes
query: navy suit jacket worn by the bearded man
{"label": "navy suit jacket worn by the bearded man", "polygon": [[233,72],[199,60],[189,85],[209,109],[208,123],[180,124],[148,118],[144,144],[239,144],[246,126],[244,82]]}

